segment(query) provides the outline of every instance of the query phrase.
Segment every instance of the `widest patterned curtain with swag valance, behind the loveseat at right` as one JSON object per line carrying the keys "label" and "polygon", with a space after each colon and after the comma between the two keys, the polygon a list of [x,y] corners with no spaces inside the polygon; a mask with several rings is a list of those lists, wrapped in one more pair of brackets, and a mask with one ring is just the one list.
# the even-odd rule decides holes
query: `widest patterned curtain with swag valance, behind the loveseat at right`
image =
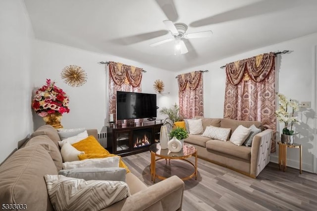
{"label": "widest patterned curtain with swag valance, behind the loveseat at right", "polygon": [[[261,121],[275,131],[275,55],[264,53],[226,65],[223,117]],[[275,133],[274,133],[275,134]],[[271,153],[275,152],[272,141]]]}

